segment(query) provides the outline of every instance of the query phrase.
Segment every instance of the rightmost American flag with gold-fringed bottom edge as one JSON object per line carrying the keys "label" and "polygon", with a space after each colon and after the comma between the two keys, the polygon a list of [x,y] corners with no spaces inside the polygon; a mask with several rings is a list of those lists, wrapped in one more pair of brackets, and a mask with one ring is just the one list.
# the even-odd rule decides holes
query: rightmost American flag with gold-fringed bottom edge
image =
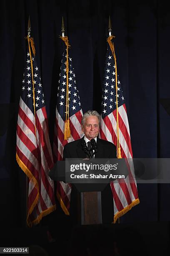
{"label": "rightmost American flag with gold-fringed bottom edge", "polygon": [[[105,73],[102,89],[102,112],[100,138],[110,141],[117,146],[117,115],[116,115],[116,63],[110,45],[107,47]],[[117,76],[117,104],[119,120],[119,141],[122,158],[133,158],[128,116],[122,85]],[[111,182],[110,186],[114,201],[114,223],[117,218],[128,212],[139,203],[137,184],[134,176],[134,167],[129,164],[129,175],[124,182]]]}

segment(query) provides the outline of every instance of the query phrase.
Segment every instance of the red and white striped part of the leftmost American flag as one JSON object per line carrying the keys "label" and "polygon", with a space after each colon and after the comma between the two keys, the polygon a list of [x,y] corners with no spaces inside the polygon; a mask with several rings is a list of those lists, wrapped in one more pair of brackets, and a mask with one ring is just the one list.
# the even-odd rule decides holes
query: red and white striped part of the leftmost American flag
{"label": "red and white striped part of the leftmost American flag", "polygon": [[55,209],[54,183],[48,176],[53,158],[45,107],[37,110],[34,117],[21,97],[16,153],[18,164],[29,178],[27,221],[31,226]]}

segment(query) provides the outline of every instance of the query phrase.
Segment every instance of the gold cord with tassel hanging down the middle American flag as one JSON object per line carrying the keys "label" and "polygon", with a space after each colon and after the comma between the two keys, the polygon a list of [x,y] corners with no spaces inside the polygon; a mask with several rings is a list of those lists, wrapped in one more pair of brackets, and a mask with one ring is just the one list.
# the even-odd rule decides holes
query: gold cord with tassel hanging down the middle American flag
{"label": "gold cord with tassel hanging down the middle American flag", "polygon": [[69,66],[68,66],[68,47],[70,47],[68,42],[68,37],[62,37],[60,38],[65,42],[65,45],[67,46],[67,59],[66,59],[66,74],[67,74],[67,85],[66,85],[66,113],[65,113],[65,128],[64,128],[64,139],[67,140],[71,136],[70,131],[70,121],[69,121],[69,100],[68,100],[68,72],[69,72]]}

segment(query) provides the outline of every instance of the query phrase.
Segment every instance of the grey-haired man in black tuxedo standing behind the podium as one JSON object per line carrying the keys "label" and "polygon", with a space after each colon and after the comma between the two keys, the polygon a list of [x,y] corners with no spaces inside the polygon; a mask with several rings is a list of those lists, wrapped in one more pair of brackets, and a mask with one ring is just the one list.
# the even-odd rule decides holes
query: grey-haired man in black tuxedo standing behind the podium
{"label": "grey-haired man in black tuxedo standing behind the podium", "polygon": [[[63,160],[66,158],[80,158],[85,159],[87,157],[87,153],[83,151],[83,146],[85,143],[88,147],[88,142],[91,139],[95,139],[97,145],[97,152],[93,151],[92,157],[94,158],[116,158],[116,147],[113,143],[109,141],[102,140],[97,138],[100,129],[100,115],[95,110],[87,111],[83,117],[81,122],[82,132],[84,133],[84,137],[77,140],[67,143],[64,147],[63,151]],[[85,141],[85,143],[84,143]],[[95,153],[95,154],[94,154]],[[107,184],[105,189],[101,193],[102,199],[102,223],[112,223],[114,217],[113,210],[113,198],[110,184]],[[74,216],[76,220],[76,204],[77,201],[77,193],[75,192],[74,187],[72,187],[71,192],[71,200],[70,200],[70,216]]]}

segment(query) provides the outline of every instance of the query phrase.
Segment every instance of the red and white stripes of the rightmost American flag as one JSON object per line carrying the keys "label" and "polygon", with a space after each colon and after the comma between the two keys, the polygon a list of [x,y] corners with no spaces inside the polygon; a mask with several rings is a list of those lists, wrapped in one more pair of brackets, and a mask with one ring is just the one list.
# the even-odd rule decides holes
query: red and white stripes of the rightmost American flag
{"label": "red and white stripes of the rightmost American flag", "polygon": [[[119,139],[122,158],[133,158],[128,116],[125,104],[118,108],[119,120]],[[101,118],[100,138],[112,142],[117,146],[117,122],[116,110]],[[126,179],[111,182],[110,186],[114,201],[114,222],[123,215],[128,209],[139,202],[137,184],[134,175],[134,166],[132,161],[128,161],[129,175]]]}

